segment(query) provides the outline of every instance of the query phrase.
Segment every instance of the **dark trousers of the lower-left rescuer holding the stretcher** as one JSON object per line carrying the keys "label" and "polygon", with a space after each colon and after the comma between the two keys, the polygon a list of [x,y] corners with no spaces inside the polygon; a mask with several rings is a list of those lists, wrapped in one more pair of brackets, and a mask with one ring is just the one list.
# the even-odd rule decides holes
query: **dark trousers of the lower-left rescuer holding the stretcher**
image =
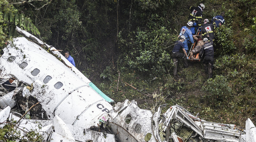
{"label": "dark trousers of the lower-left rescuer holding the stretcher", "polygon": [[177,68],[178,68],[178,59],[183,59],[183,66],[188,67],[188,61],[186,60],[186,56],[183,53],[175,52],[171,54],[171,57],[174,62],[173,75],[177,76]]}

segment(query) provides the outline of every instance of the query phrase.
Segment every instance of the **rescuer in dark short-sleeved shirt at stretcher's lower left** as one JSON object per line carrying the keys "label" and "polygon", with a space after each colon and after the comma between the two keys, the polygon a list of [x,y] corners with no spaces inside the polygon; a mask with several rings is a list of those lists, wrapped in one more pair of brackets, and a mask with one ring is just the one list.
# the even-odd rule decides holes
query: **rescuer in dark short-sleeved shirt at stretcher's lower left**
{"label": "rescuer in dark short-sleeved shirt at stretcher's lower left", "polygon": [[[188,67],[188,61],[186,59],[188,59],[188,55],[186,54],[186,51],[184,49],[184,45],[182,42],[184,42],[184,40],[186,40],[185,36],[182,35],[179,37],[179,40],[177,40],[174,44],[174,47],[172,49],[172,53],[171,53],[171,57],[173,59],[174,62],[174,68],[173,68],[173,75],[174,78],[177,78],[177,68],[178,68],[178,59],[183,59],[183,66],[186,68]],[[180,53],[180,49],[183,50],[183,53]]]}

